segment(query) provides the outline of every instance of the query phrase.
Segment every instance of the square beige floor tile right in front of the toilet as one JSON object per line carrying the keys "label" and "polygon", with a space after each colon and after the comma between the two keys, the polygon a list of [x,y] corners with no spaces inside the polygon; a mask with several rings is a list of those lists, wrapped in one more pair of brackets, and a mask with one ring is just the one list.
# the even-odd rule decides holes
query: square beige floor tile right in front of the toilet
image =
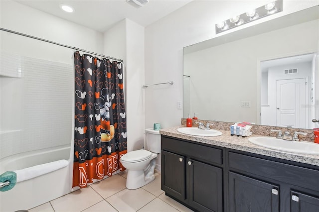
{"label": "square beige floor tile right in front of the toilet", "polygon": [[136,212],[156,197],[144,189],[124,189],[106,199],[119,212]]}

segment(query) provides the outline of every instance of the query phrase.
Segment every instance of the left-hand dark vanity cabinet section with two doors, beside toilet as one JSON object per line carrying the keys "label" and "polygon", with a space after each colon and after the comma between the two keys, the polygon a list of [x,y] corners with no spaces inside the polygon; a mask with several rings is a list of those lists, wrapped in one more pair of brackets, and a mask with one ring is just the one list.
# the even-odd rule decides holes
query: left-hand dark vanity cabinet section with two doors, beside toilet
{"label": "left-hand dark vanity cabinet section with two doors, beside toilet", "polygon": [[[166,195],[198,212],[223,212],[223,169],[209,163],[209,155],[202,156],[201,145],[162,138],[161,189]],[[178,146],[178,148],[175,148]],[[191,147],[191,148],[189,148]],[[191,150],[188,154],[182,149]],[[205,150],[205,151],[206,151]],[[187,151],[186,151],[187,152]],[[217,149],[218,154],[220,149]],[[211,163],[220,163],[220,158]]]}

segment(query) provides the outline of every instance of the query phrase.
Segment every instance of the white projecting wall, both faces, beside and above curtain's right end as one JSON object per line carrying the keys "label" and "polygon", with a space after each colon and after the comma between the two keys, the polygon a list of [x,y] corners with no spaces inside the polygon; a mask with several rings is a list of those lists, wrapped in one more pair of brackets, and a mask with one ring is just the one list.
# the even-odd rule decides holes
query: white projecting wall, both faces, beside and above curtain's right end
{"label": "white projecting wall, both faces, beside and above curtain's right end", "polygon": [[104,33],[104,52],[124,60],[128,151],[144,146],[144,27],[124,19]]}

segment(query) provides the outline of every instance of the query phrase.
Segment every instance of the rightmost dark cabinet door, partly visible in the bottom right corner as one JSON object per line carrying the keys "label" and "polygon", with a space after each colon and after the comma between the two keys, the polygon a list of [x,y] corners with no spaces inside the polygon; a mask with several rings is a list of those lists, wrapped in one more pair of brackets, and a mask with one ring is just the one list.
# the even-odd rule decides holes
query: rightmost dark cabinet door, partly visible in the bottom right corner
{"label": "rightmost dark cabinet door, partly visible in the bottom right corner", "polygon": [[290,208],[291,212],[319,212],[319,197],[291,191]]}

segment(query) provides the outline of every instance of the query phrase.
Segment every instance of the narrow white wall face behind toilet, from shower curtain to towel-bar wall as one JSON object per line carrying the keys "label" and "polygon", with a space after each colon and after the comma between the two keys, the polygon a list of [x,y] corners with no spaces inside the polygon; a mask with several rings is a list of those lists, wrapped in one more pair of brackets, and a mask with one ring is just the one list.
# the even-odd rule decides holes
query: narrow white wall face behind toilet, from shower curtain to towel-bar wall
{"label": "narrow white wall face behind toilet, from shower curtain to towel-bar wall", "polygon": [[144,27],[126,19],[126,107],[128,151],[142,149],[145,133]]}

